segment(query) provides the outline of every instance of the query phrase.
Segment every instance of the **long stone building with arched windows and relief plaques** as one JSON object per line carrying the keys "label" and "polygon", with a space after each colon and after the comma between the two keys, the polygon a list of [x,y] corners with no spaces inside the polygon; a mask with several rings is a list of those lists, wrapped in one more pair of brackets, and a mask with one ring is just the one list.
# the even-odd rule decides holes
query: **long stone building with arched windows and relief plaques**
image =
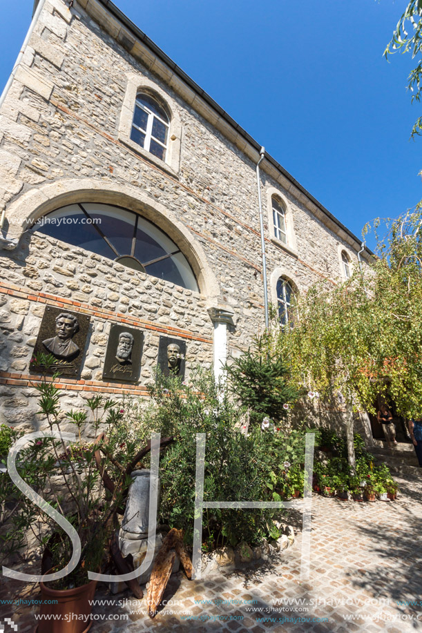
{"label": "long stone building with arched windows and relief plaques", "polygon": [[[181,372],[218,373],[264,327],[260,146],[109,0],[37,0],[18,62],[0,102],[0,420],[37,427],[35,347],[72,407],[143,396],[171,344]],[[286,322],[361,244],[269,155],[260,188]]]}

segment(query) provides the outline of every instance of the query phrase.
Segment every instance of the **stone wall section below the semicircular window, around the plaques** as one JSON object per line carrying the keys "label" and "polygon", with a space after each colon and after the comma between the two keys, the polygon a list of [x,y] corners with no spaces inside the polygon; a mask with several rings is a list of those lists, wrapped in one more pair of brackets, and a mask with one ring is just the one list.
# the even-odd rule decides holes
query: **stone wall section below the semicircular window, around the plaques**
{"label": "stone wall section below the semicircular window, around the plaques", "polygon": [[[145,384],[155,376],[160,335],[186,341],[186,373],[198,364],[211,365],[213,327],[211,320],[204,321],[205,300],[199,293],[44,235],[26,235],[19,249],[1,255],[8,273],[0,282],[0,423],[38,427],[33,385],[41,377],[30,374],[29,367],[46,305],[90,315],[80,380],[58,382],[64,408],[77,407],[79,398],[95,392],[113,398],[124,393],[146,396]],[[144,333],[137,384],[102,380],[112,323]]]}

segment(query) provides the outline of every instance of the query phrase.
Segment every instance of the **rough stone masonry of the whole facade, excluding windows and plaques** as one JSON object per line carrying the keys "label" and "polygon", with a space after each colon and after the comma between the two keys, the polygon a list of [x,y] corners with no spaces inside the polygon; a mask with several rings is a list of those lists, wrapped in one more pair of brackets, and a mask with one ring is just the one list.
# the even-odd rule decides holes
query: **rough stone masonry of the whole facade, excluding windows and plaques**
{"label": "rough stone masonry of the whole facade, excluding windows and plaques", "polygon": [[[6,208],[5,228],[14,221],[8,215],[10,205],[38,189],[41,204],[42,188],[49,183],[57,184],[57,195],[62,182],[75,178],[137,188],[140,195],[168,208],[202,246],[218,282],[218,304],[231,307],[235,315],[236,327],[229,329],[228,344],[229,354],[236,354],[263,327],[255,164],[130,55],[81,5],[86,6],[86,1],[75,2],[69,10],[62,0],[46,0],[1,108],[0,208]],[[119,139],[128,72],[154,81],[177,104],[182,123],[177,175],[157,167]],[[262,171],[264,204],[268,187],[285,196],[298,246],[298,257],[294,257],[271,241],[272,227],[264,209],[268,277],[275,269],[289,269],[301,289],[323,277],[338,278],[338,235],[295,197],[293,188],[286,191]],[[106,193],[101,202],[108,202]],[[58,199],[56,208],[63,204]],[[3,415],[9,422],[27,419],[25,405],[17,412],[14,398],[23,402],[31,392],[28,362],[43,303],[70,305],[67,300],[76,302],[72,305],[80,311],[92,311],[93,331],[81,376],[87,392],[104,388],[102,358],[108,324],[125,317],[151,327],[144,341],[140,384],[129,386],[132,391],[144,393],[144,384],[153,374],[160,328],[189,340],[188,367],[211,362],[213,326],[203,289],[202,295],[180,289],[95,254],[55,244],[33,231],[25,234],[17,250],[1,252],[0,266],[0,380],[6,383]],[[69,380],[62,381],[72,387],[66,391],[79,393],[81,385]],[[20,395],[13,396],[15,391]]]}

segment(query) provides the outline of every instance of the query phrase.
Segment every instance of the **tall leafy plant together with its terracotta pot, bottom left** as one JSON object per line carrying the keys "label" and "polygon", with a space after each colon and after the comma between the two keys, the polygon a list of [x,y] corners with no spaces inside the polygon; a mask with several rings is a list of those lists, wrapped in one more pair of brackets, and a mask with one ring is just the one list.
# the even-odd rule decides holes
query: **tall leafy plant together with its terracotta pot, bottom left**
{"label": "tall leafy plant together with its terracotta pot, bottom left", "polygon": [[[44,366],[52,362],[51,358],[43,355]],[[40,413],[55,437],[46,434],[24,446],[19,453],[17,468],[20,476],[30,482],[35,491],[49,491],[46,500],[66,517],[77,532],[81,555],[70,574],[48,582],[49,572],[64,569],[70,561],[73,543],[55,520],[22,493],[17,496],[14,512],[8,518],[8,530],[3,535],[3,541],[12,545],[16,542],[16,532],[22,537],[31,529],[41,547],[44,547],[40,571],[46,575],[40,585],[43,598],[41,615],[53,617],[40,619],[37,631],[81,633],[87,630],[90,600],[96,585],[96,581],[89,581],[88,571],[97,572],[104,565],[108,541],[118,525],[116,514],[131,478],[120,471],[120,480],[113,494],[105,489],[95,460],[95,451],[99,445],[85,445],[81,440],[81,431],[88,422],[88,412],[61,411],[60,393],[55,387],[56,378],[57,374],[50,380],[45,380],[44,376],[44,380],[35,386],[39,392]],[[120,416],[116,403],[102,396],[88,399],[87,407],[95,433],[101,424],[113,427]],[[57,438],[57,432],[63,432],[61,427],[64,422],[72,422],[77,429],[78,440],[70,450],[63,436]],[[112,471],[115,467],[113,462],[115,460],[111,458],[110,462],[102,466]],[[41,525],[39,531],[34,529],[36,525]],[[74,615],[73,619],[66,619],[66,614],[70,613],[81,617],[78,619]]]}

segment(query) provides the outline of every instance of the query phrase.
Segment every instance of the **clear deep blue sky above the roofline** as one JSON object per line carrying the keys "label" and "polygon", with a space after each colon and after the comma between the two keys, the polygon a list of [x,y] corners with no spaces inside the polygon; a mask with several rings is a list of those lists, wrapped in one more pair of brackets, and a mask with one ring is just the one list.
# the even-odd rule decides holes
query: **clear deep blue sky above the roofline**
{"label": "clear deep blue sky above the roofline", "polygon": [[[383,57],[406,1],[115,3],[356,235],[422,198],[412,59]],[[32,4],[0,0],[2,87]]]}

